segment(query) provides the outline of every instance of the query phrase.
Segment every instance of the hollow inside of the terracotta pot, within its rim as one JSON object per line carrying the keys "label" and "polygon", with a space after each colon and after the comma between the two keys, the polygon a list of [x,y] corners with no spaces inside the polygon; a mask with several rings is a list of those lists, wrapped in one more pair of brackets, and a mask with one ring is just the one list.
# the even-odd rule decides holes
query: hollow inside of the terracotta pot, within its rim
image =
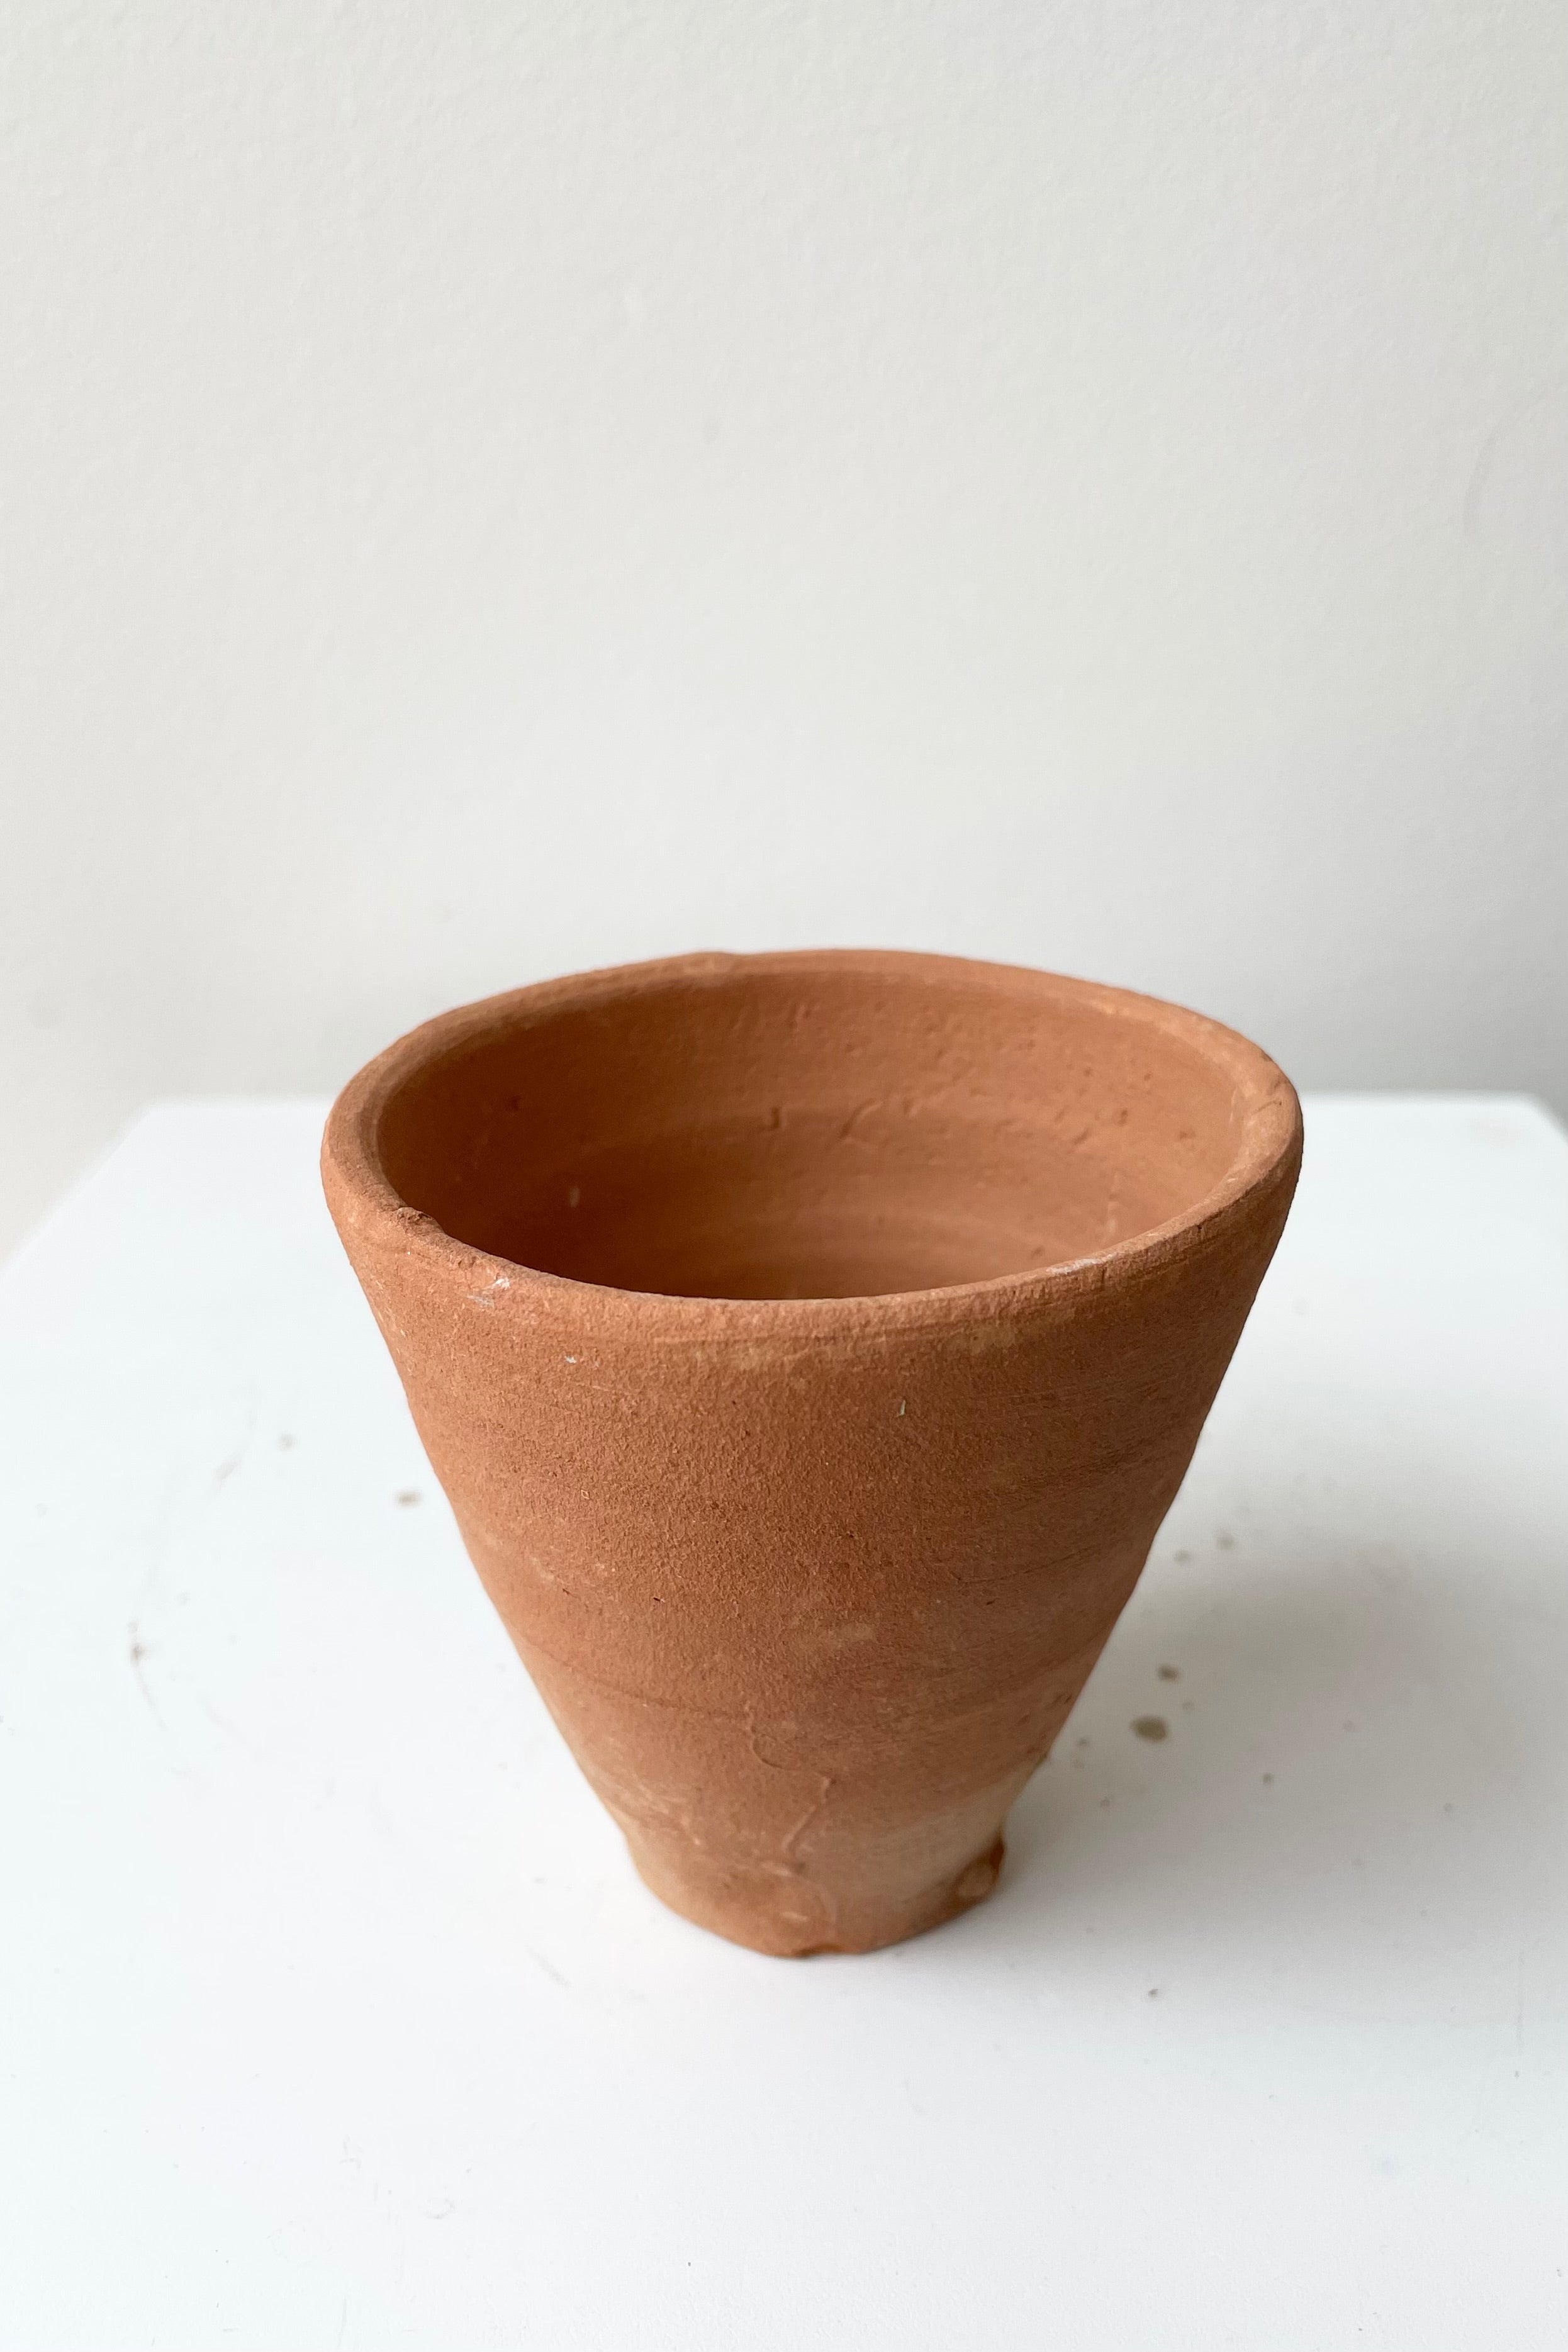
{"label": "hollow inside of the terracotta pot, within its rim", "polygon": [[1164,1225],[1227,1171],[1246,1101],[1161,1014],[898,957],[628,974],[505,1000],[416,1063],[378,1152],[454,1240],[576,1282],[980,1282]]}

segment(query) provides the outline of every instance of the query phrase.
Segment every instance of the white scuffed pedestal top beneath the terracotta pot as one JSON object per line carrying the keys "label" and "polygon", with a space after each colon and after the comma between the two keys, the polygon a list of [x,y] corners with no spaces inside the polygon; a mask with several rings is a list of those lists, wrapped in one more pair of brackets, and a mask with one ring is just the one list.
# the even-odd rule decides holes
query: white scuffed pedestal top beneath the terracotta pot
{"label": "white scuffed pedestal top beneath the terracotta pot", "polygon": [[1307,1103],[999,1893],[776,1962],[522,1675],[322,1108],[148,1112],[0,1277],[0,2352],[1568,2343],[1540,1110]]}

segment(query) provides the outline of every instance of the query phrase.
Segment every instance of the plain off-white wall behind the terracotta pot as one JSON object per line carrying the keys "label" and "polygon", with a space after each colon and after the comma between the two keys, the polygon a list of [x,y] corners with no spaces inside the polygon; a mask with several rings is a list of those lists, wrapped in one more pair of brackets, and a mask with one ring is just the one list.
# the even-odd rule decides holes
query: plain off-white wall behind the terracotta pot
{"label": "plain off-white wall behind the terracotta pot", "polygon": [[9,0],[5,1230],[889,941],[1568,1105],[1561,0]]}

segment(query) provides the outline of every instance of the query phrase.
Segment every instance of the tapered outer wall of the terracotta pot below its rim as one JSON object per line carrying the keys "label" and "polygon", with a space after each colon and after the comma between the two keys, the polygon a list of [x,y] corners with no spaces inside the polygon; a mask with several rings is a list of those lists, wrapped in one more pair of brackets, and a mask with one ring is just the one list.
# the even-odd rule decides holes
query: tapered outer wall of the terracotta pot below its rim
{"label": "tapered outer wall of the terracotta pot below its rim", "polygon": [[811,1952],[990,1893],[1298,1160],[1100,1284],[929,1294],[929,1322],[865,1301],[823,1336],[722,1303],[616,1319],[581,1284],[435,1254],[329,1131],[329,1204],[468,1552],[665,1903]]}

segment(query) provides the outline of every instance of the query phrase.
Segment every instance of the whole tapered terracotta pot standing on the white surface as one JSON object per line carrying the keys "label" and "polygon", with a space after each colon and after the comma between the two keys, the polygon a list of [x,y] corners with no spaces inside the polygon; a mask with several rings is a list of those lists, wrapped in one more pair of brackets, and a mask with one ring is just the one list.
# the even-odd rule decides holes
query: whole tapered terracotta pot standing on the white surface
{"label": "whole tapered terracotta pot standing on the white surface", "polygon": [[1291,1207],[1232,1030],[933,955],[691,955],[364,1068],[331,1214],[463,1541],[663,1900],[983,1900]]}

